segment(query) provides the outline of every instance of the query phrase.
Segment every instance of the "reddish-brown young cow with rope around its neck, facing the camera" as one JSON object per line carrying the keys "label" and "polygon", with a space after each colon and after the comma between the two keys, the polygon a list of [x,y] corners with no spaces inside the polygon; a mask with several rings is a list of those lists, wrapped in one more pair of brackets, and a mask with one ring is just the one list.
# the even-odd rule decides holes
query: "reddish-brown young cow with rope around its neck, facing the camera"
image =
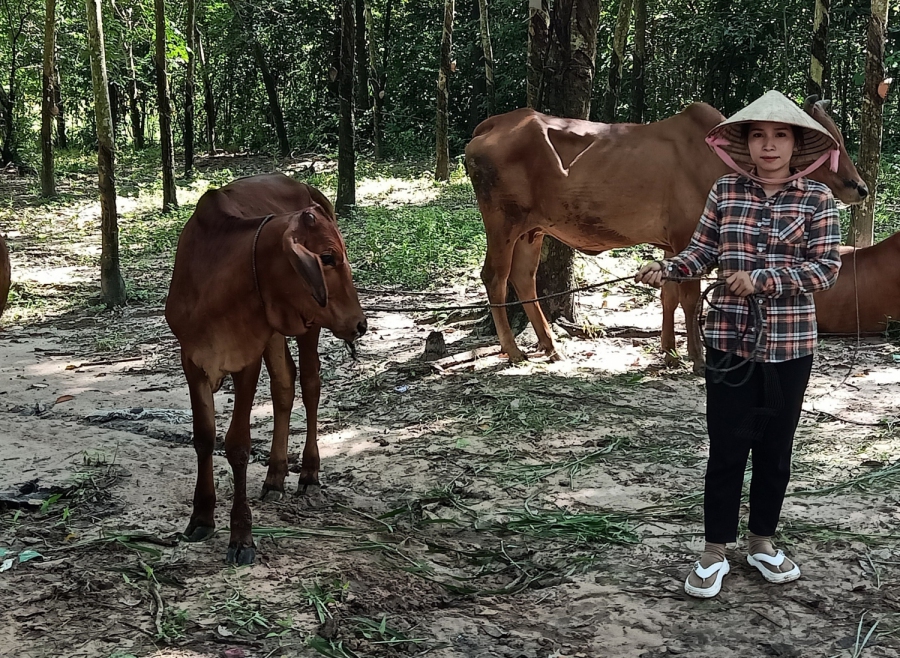
{"label": "reddish-brown young cow with rope around its neck, facing the camera", "polygon": [[178,240],[166,320],[181,344],[194,417],[197,485],[185,535],[209,537],[216,491],[213,393],[234,382],[225,454],[234,474],[229,562],[255,557],[247,503],[250,410],[261,362],[271,378],[275,428],[263,496],[284,492],[296,368],[285,336],[300,349],[306,446],[300,484],[318,484],[316,415],[321,327],[353,341],[366,331],[334,209],[314,187],[282,174],[241,178],[200,199]]}

